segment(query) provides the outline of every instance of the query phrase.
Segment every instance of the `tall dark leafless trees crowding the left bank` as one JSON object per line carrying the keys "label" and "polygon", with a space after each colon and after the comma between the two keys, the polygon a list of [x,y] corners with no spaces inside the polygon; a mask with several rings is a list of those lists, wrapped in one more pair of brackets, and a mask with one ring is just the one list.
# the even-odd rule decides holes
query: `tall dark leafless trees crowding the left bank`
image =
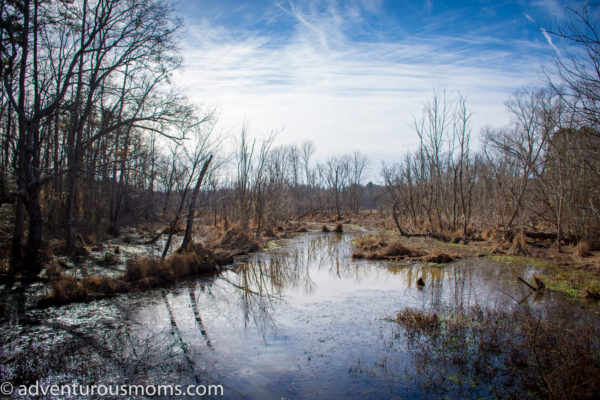
{"label": "tall dark leafless trees crowding the left bank", "polygon": [[181,140],[203,118],[169,86],[180,24],[167,2],[0,6],[1,189],[14,202],[11,266],[36,273],[44,233],[62,231],[73,247],[82,225],[108,220],[117,230],[129,211],[125,187],[152,193],[160,185],[157,138]]}

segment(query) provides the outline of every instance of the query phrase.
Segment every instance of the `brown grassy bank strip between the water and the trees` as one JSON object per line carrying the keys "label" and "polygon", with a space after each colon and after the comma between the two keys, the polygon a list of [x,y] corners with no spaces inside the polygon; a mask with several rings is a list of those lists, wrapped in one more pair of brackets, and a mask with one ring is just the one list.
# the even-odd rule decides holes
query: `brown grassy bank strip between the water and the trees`
{"label": "brown grassy bank strip between the water and the trees", "polygon": [[[489,257],[507,265],[541,267],[536,280],[528,282],[532,290],[544,287],[578,301],[600,299],[600,252],[589,247],[585,251],[573,245],[557,249],[550,240],[533,241],[523,235],[513,235],[508,241],[493,230],[469,232],[466,237],[459,233],[406,237],[394,229],[391,218],[374,211],[341,221],[313,216],[270,224],[258,236],[252,228],[225,230],[223,226],[199,223],[194,232],[197,242],[176,254],[172,250],[165,259],[159,254],[168,231],[156,224],[125,229],[118,238],[79,235],[77,247],[71,251],[66,251],[61,241],[52,240],[46,246],[48,262],[41,274],[46,287],[37,290],[36,302],[40,306],[57,305],[166,287],[182,279],[215,274],[236,257],[276,247],[279,239],[308,231],[336,230],[357,233],[355,259],[435,265],[465,257]],[[173,232],[173,249],[178,248],[182,234],[183,230]]]}

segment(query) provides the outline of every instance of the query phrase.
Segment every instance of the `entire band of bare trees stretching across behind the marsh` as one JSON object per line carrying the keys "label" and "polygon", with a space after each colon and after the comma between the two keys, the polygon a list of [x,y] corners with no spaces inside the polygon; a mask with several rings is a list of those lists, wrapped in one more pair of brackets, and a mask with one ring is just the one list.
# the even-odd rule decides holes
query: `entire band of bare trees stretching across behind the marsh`
{"label": "entire band of bare trees stretching across behind the marsh", "polygon": [[38,273],[50,238],[72,248],[77,233],[173,224],[194,208],[256,234],[274,221],[379,209],[408,233],[466,235],[496,225],[550,231],[557,244],[563,235],[598,237],[595,6],[547,30],[570,52],[556,56],[545,87],[515,93],[507,103],[513,122],[486,129],[480,150],[466,99],[435,92],[415,121],[418,150],[384,166],[385,186],[377,186],[365,184],[369,159],[359,152],[315,163],[311,142],[276,146],[246,129],[234,154],[219,150],[211,113],[170,84],[180,25],[167,0],[0,3],[0,200],[10,274]]}

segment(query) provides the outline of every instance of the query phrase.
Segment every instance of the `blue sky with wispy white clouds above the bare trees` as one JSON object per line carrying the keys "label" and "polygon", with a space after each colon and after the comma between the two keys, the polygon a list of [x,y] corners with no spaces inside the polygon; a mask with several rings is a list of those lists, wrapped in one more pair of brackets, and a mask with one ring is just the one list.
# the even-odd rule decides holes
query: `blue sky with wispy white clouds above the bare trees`
{"label": "blue sky with wispy white clouds above the bare trees", "polygon": [[[569,2],[573,4],[573,2]],[[216,110],[218,131],[359,150],[373,170],[414,149],[434,90],[467,97],[474,146],[516,89],[539,85],[561,0],[179,0],[177,85]]]}

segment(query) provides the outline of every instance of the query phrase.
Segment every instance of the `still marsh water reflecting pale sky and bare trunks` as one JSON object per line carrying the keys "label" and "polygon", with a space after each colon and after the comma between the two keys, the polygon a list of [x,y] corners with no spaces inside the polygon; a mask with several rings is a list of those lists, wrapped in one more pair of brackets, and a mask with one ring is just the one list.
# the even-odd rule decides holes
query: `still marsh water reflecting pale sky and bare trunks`
{"label": "still marsh water reflecting pale sky and bare trunks", "polygon": [[211,280],[28,311],[2,325],[0,378],[221,384],[227,398],[422,398],[431,393],[390,322],[400,310],[596,315],[530,293],[515,276],[531,278],[533,266],[356,261],[352,238],[303,234]]}

